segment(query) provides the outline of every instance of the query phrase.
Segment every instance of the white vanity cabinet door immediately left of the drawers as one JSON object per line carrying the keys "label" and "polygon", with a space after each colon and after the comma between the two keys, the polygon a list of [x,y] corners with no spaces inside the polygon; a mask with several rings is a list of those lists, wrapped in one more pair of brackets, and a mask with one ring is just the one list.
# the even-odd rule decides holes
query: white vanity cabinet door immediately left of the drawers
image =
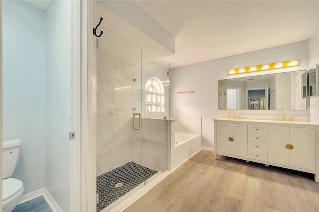
{"label": "white vanity cabinet door immediately left of the drawers", "polygon": [[231,124],[231,155],[247,158],[247,124]]}

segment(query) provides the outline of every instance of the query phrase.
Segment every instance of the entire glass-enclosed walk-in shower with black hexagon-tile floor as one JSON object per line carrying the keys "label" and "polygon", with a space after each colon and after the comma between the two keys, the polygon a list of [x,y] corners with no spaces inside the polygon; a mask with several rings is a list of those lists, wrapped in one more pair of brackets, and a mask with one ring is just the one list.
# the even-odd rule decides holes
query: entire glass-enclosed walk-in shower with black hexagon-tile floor
{"label": "entire glass-enclosed walk-in shower with black hexagon-tile floor", "polygon": [[[97,49],[97,211],[167,169],[169,64],[101,27]],[[166,132],[166,134],[165,134]]]}

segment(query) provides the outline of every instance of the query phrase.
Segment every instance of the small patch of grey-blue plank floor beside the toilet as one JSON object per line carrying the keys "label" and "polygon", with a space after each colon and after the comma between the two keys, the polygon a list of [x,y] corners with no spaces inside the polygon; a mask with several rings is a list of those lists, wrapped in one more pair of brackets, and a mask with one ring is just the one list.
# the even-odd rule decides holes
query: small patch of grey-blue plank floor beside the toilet
{"label": "small patch of grey-blue plank floor beside the toilet", "polygon": [[43,196],[34,198],[15,207],[12,212],[53,212]]}

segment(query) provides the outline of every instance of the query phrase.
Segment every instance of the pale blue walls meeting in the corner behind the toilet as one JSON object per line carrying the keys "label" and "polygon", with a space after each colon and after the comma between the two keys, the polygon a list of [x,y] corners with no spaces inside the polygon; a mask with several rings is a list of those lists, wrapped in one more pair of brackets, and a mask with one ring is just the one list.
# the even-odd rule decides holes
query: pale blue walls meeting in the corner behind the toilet
{"label": "pale blue walls meeting in the corner behind the toilet", "polygon": [[46,188],[70,210],[71,1],[41,10],[2,1],[3,140],[22,140],[12,177],[24,194]]}

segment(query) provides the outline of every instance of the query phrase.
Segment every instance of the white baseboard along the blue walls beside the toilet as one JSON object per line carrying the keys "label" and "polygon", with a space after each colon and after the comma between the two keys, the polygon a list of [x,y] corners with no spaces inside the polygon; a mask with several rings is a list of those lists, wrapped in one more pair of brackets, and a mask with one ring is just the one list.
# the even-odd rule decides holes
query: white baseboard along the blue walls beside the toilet
{"label": "white baseboard along the blue walls beside the toilet", "polygon": [[46,188],[42,188],[34,192],[30,192],[29,194],[23,195],[18,205],[40,196],[43,196],[43,198],[48,203],[48,205],[50,206],[53,212],[62,212],[62,210],[60,209],[58,204],[55,202],[55,200],[52,198],[48,190],[46,190]]}

